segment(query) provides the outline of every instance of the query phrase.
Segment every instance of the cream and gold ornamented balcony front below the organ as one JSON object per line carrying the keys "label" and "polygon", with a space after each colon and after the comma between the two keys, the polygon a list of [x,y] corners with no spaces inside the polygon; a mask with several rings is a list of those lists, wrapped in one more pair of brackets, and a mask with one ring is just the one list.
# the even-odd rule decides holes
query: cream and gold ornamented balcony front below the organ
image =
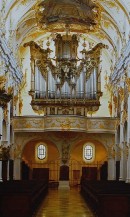
{"label": "cream and gold ornamented balcony front below the organ", "polygon": [[14,117],[15,132],[77,131],[115,133],[116,118],[83,118],[79,116]]}

